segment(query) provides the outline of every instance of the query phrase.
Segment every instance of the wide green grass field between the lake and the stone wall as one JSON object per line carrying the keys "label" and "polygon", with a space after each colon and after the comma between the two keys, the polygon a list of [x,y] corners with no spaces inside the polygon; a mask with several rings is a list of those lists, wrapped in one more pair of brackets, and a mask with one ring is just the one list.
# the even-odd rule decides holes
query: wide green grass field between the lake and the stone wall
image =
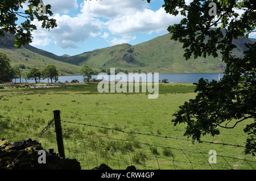
{"label": "wide green grass field between the lake and the stone wall", "polygon": [[[204,136],[203,143],[187,140],[184,124],[174,127],[172,114],[195,98],[194,90],[190,83],[160,84],[158,98],[148,99],[146,93],[101,94],[93,84],[0,89],[0,137],[34,139],[60,110],[66,157],[79,159],[82,169],[100,163],[113,169],[255,169],[256,159],[244,148],[223,145],[245,146],[243,128],[251,120],[220,129],[216,137]],[[53,127],[38,141],[57,150]],[[210,150],[217,163],[209,166]]]}

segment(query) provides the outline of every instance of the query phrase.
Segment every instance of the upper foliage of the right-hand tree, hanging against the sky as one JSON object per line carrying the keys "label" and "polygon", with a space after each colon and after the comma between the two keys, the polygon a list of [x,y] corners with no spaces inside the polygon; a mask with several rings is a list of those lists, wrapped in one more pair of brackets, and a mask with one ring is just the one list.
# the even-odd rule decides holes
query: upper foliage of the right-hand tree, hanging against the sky
{"label": "upper foliage of the right-hand tree, hanging against the sky", "polygon": [[[233,39],[248,37],[255,29],[253,1],[215,1],[216,16],[208,14],[210,2],[212,1],[192,1],[186,5],[184,1],[167,0],[163,5],[167,13],[185,16],[179,24],[168,27],[168,31],[172,33],[172,40],[183,43],[186,59],[192,54],[194,58],[209,55],[217,57],[217,50],[221,50],[222,60],[225,61],[236,48]],[[236,9],[245,11],[240,18]]]}

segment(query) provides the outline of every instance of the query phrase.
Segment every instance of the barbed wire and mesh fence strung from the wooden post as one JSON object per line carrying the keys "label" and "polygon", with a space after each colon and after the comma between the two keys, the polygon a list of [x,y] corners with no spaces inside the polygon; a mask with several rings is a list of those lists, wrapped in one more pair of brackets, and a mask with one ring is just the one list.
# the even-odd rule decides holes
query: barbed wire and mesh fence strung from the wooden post
{"label": "barbed wire and mesh fence strung from the wooden post", "polygon": [[[91,170],[102,163],[115,170],[125,170],[128,166],[135,166],[137,170],[254,170],[256,168],[255,159],[204,151],[207,149],[192,150],[191,147],[196,142],[203,147],[222,145],[225,148],[226,146],[245,148],[242,145],[128,132],[117,128],[61,120],[58,114],[55,114],[54,119],[34,140],[40,138],[53,124],[55,124],[59,156],[76,158],[83,170]],[[189,149],[179,148],[181,141],[193,144],[188,146]]]}

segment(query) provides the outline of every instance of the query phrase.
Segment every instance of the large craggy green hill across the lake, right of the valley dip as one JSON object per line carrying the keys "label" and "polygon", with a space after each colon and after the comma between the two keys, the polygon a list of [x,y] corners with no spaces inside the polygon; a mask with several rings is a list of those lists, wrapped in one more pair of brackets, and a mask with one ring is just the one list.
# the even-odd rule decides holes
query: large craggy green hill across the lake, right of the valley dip
{"label": "large craggy green hill across the lake, right of the valley dip", "polygon": [[[182,44],[170,39],[171,34],[156,37],[150,41],[137,44],[120,44],[113,47],[96,49],[76,56],[68,57],[64,62],[74,65],[88,64],[93,68],[109,70],[110,68],[131,71],[159,73],[220,73],[225,69],[221,57],[199,57],[185,60]],[[234,51],[242,56],[245,43],[256,39],[241,38],[234,42],[238,48]]]}

